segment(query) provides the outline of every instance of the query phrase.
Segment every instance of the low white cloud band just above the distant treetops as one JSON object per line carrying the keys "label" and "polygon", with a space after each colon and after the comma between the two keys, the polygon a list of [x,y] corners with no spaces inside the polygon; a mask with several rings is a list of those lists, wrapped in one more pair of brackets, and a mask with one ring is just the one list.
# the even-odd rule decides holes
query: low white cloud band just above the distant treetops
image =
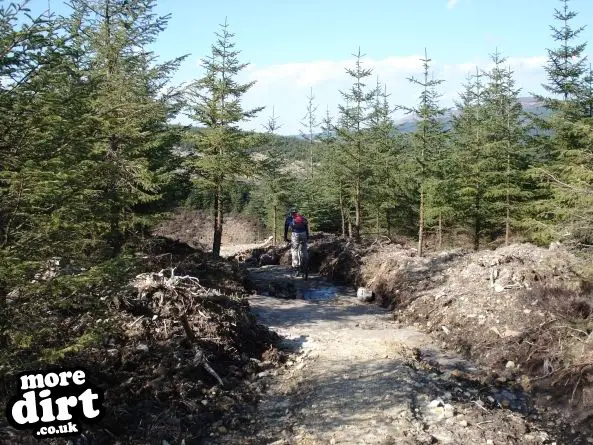
{"label": "low white cloud band just above the distant treetops", "polygon": [[[414,106],[420,90],[410,84],[409,77],[422,76],[423,55],[390,56],[383,59],[363,59],[363,67],[372,68],[372,76],[366,79],[367,85],[375,85],[377,77],[381,84],[386,84],[391,94],[392,105]],[[521,95],[541,92],[545,82],[545,56],[509,57],[506,66],[515,73],[516,86],[521,88]],[[353,67],[354,60],[319,60],[312,62],[287,63],[270,66],[251,66],[245,70],[241,81],[256,80],[256,84],[244,98],[244,107],[252,108],[265,105],[266,109],[245,128],[261,131],[272,112],[272,106],[282,127],[281,134],[298,134],[304,129],[300,122],[306,113],[307,96],[313,89],[317,116],[320,120],[329,109],[336,114],[337,106],[343,103],[340,91],[347,91],[352,79],[346,73],[346,67]],[[474,73],[476,66],[488,70],[492,64],[488,59],[468,60],[464,63],[448,64],[433,60],[432,70],[436,79],[443,79],[440,92],[443,106],[451,107],[459,97],[468,73]],[[395,118],[401,114],[394,115]]]}

